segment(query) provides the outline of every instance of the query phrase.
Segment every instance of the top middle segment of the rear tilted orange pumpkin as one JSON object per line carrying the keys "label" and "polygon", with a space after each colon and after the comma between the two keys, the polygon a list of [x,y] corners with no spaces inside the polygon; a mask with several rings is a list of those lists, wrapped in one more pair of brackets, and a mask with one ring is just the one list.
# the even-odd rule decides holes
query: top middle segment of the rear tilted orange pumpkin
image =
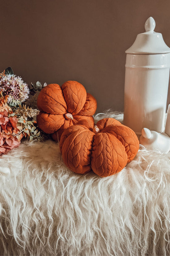
{"label": "top middle segment of the rear tilted orange pumpkin", "polygon": [[86,89],[81,83],[67,81],[62,84],[62,92],[67,104],[68,112],[72,115],[77,115],[86,102]]}

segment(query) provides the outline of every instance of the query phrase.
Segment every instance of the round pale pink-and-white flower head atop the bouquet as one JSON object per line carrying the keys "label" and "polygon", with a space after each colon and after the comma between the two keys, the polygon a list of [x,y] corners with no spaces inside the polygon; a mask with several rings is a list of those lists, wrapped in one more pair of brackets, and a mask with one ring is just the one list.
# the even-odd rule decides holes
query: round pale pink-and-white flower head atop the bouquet
{"label": "round pale pink-and-white flower head atop the bouquet", "polygon": [[28,99],[28,84],[16,75],[4,75],[0,78],[0,90],[4,96],[8,95],[7,102],[23,102]]}

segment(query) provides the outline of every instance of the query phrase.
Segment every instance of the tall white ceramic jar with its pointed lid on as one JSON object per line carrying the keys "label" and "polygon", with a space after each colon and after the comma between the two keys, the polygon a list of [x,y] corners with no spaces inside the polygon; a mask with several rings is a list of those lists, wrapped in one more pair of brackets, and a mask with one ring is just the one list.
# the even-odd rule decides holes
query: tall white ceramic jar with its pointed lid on
{"label": "tall white ceramic jar with its pointed lid on", "polygon": [[155,20],[145,23],[126,50],[123,124],[140,136],[142,128],[164,131],[168,95],[170,48],[162,34],[154,32]]}

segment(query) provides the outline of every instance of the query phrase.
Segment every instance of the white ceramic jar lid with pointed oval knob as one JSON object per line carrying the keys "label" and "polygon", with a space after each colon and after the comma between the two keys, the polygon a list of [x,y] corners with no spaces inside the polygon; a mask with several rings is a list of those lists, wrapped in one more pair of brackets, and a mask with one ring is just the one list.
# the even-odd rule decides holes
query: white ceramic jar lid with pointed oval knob
{"label": "white ceramic jar lid with pointed oval knob", "polygon": [[169,53],[170,48],[164,42],[161,33],[154,32],[155,20],[149,17],[145,22],[146,32],[138,34],[133,45],[125,51],[129,54]]}

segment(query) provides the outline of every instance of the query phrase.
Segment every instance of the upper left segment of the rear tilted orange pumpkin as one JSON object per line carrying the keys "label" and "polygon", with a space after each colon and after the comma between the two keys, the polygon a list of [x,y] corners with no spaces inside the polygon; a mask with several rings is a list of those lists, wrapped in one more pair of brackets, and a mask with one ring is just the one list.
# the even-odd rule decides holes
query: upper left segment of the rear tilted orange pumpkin
{"label": "upper left segment of the rear tilted orange pumpkin", "polygon": [[62,89],[55,83],[47,85],[40,91],[37,106],[41,111],[48,114],[64,115],[67,113],[67,105]]}

